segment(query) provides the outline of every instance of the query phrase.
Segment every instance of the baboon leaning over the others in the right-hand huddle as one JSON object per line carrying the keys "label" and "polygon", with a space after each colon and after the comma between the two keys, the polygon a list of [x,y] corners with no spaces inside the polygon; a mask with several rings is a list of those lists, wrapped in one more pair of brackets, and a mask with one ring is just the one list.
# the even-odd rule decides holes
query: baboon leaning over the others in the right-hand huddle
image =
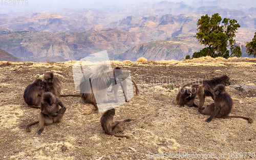
{"label": "baboon leaning over the others in the right-hand huddle", "polygon": [[[213,99],[213,96],[204,92],[204,89],[208,89],[208,90],[212,91],[212,90],[214,90],[214,88],[217,85],[229,86],[230,82],[229,82],[229,77],[227,75],[222,75],[219,77],[214,77],[210,80],[191,82],[191,83],[184,85],[182,88],[185,88],[187,86],[192,86],[193,88],[195,88],[195,87],[198,88],[198,85],[199,85],[199,89],[197,90],[197,96],[199,99],[199,109],[204,109],[203,105],[204,105],[205,97],[211,96]],[[178,93],[178,94],[180,94],[180,93]]]}

